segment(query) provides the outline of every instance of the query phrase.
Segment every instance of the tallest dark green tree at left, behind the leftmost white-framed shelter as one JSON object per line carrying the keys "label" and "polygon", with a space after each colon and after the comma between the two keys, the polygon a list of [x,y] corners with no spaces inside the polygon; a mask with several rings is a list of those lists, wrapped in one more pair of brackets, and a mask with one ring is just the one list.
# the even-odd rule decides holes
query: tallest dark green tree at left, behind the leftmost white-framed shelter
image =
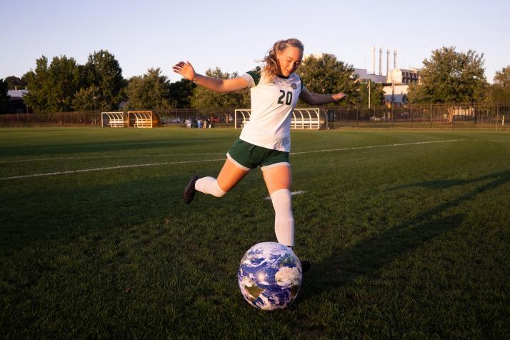
{"label": "tallest dark green tree at left, behind the leftmost white-framed shelter", "polygon": [[[81,87],[85,93],[94,92],[96,108],[101,111],[118,109],[124,88],[122,69],[119,61],[109,51],[94,51],[82,66]],[[94,89],[91,89],[94,87]]]}

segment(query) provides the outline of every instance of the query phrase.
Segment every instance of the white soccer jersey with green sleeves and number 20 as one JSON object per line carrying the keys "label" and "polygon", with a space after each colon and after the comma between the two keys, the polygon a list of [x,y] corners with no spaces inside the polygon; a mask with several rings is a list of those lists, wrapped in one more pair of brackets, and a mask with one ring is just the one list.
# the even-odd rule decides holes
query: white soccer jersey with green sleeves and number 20
{"label": "white soccer jersey with green sleeves and number 20", "polygon": [[291,119],[299,94],[301,78],[275,76],[268,79],[260,67],[241,75],[251,86],[251,116],[239,139],[256,146],[291,151]]}

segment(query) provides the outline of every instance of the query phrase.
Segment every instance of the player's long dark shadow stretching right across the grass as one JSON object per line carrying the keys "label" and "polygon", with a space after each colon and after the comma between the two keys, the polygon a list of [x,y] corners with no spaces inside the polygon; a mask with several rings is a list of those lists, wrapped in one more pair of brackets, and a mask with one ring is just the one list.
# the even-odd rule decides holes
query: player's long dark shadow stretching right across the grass
{"label": "player's long dark shadow stretching right across the grass", "polygon": [[301,291],[302,299],[310,299],[323,292],[346,286],[358,276],[376,276],[379,269],[386,264],[410,254],[441,234],[456,229],[464,221],[464,214],[449,214],[449,209],[474,199],[478,194],[509,183],[510,171],[480,176],[471,180],[426,181],[396,188],[424,186],[431,189],[446,189],[488,179],[491,179],[489,183],[472,189],[456,199],[439,204],[388,231],[361,241],[351,249],[334,251],[333,256],[316,264],[309,274],[306,274],[306,284]]}

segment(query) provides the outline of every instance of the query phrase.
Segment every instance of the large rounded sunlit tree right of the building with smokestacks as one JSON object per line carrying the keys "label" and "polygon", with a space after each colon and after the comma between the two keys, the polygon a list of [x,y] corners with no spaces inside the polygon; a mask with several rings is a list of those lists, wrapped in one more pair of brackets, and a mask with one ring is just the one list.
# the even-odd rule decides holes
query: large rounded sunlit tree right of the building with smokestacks
{"label": "large rounded sunlit tree right of the building with smokestacks", "polygon": [[455,47],[432,51],[423,61],[420,83],[409,86],[411,102],[483,101],[488,83],[484,74],[484,54],[456,52]]}

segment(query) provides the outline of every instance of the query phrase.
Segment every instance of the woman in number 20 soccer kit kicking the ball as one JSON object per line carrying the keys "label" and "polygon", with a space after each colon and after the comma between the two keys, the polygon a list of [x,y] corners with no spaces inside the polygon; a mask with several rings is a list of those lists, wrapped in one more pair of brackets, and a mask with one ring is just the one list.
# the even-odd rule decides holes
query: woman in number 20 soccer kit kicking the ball
{"label": "woman in number 20 soccer kit kicking the ball", "polygon": [[251,88],[251,116],[239,139],[226,154],[218,178],[193,176],[184,189],[183,199],[190,204],[196,191],[221,197],[243,179],[251,169],[261,166],[273,202],[274,230],[279,243],[294,247],[294,217],[291,210],[291,164],[289,162],[291,114],[301,99],[306,104],[336,102],[344,94],[315,94],[304,87],[294,72],[303,59],[304,46],[298,39],[276,41],[257,67],[234,79],[216,79],[196,74],[189,61],[173,69],[186,79],[216,92]]}

